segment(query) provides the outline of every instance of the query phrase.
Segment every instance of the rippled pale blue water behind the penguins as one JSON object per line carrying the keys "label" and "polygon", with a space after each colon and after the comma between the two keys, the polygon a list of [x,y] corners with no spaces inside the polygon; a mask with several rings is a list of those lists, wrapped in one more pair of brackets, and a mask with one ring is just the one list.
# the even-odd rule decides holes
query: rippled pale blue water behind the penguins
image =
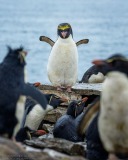
{"label": "rippled pale blue water behind the penguins", "polygon": [[39,37],[56,41],[57,26],[63,22],[71,24],[75,41],[90,40],[78,47],[79,79],[95,58],[117,52],[128,57],[127,0],[0,0],[0,61],[6,45],[22,45],[28,51],[28,81],[49,83],[46,67],[51,47]]}

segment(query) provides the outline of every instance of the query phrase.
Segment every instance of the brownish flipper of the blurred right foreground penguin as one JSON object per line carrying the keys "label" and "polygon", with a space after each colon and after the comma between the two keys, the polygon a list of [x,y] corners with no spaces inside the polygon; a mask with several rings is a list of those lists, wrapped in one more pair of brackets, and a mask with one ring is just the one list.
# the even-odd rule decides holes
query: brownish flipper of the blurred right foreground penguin
{"label": "brownish flipper of the blurred right foreground penguin", "polygon": [[99,110],[100,110],[100,96],[97,97],[94,100],[94,102],[87,107],[87,110],[85,111],[78,126],[79,135],[83,135],[86,132],[89,124],[91,123],[95,115],[99,112]]}

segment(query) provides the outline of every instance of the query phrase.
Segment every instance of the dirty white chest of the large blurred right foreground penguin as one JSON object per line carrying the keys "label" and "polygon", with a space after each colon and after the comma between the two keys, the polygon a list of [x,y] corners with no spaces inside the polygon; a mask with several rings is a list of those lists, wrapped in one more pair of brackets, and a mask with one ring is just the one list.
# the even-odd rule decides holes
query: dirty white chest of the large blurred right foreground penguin
{"label": "dirty white chest of the large blurred right foreground penguin", "polygon": [[105,148],[122,152],[121,147],[128,150],[128,79],[117,75],[103,83],[98,126]]}

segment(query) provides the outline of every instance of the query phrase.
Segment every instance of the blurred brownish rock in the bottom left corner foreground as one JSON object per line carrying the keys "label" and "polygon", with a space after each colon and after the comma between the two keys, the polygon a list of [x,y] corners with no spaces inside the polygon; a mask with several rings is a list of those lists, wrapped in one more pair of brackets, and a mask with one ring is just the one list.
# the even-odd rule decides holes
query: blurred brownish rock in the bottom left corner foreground
{"label": "blurred brownish rock in the bottom left corner foreground", "polygon": [[35,149],[0,137],[0,160],[85,160],[81,156],[68,156],[51,149]]}

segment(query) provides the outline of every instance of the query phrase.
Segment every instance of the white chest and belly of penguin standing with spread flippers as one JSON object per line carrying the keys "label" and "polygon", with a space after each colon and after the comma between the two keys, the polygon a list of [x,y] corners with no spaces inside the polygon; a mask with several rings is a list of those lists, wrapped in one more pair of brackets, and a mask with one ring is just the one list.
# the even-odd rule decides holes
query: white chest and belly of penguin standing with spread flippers
{"label": "white chest and belly of penguin standing with spread flippers", "polygon": [[48,77],[54,86],[73,86],[78,76],[78,52],[72,37],[58,38],[49,56]]}

